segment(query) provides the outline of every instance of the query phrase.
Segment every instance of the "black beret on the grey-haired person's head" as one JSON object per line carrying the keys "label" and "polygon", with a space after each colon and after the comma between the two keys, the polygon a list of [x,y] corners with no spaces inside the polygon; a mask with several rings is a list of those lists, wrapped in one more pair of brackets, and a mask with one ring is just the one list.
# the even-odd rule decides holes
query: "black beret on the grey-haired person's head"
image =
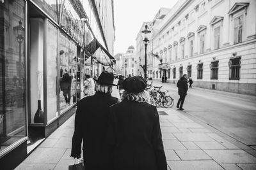
{"label": "black beret on the grey-haired person's head", "polygon": [[125,78],[123,81],[123,87],[124,90],[129,93],[143,92],[143,90],[147,87],[147,82],[141,76],[133,76]]}

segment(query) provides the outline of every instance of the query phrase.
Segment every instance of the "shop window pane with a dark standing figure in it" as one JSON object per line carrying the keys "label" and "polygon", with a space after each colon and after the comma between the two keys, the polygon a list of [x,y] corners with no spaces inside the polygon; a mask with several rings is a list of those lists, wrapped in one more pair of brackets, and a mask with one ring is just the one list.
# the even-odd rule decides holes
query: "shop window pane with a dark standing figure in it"
{"label": "shop window pane with a dark standing figure in it", "polygon": [[60,112],[76,103],[76,45],[60,34]]}

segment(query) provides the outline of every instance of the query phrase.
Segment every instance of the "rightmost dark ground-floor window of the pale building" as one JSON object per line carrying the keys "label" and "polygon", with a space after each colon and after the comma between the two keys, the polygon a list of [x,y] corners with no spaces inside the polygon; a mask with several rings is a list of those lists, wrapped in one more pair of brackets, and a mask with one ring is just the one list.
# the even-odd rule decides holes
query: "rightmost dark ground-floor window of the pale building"
{"label": "rightmost dark ground-floor window of the pale building", "polygon": [[229,80],[240,79],[240,68],[241,68],[241,57],[230,59],[228,62],[229,66]]}

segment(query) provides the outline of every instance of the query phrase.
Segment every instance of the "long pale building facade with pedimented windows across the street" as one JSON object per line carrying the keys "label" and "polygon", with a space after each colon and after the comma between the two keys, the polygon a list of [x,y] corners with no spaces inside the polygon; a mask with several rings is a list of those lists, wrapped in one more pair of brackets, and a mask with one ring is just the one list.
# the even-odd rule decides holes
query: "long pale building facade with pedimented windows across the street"
{"label": "long pale building facade with pedimented windows across the street", "polygon": [[162,60],[153,78],[188,74],[196,87],[256,95],[255,11],[249,0],[178,1],[151,39]]}

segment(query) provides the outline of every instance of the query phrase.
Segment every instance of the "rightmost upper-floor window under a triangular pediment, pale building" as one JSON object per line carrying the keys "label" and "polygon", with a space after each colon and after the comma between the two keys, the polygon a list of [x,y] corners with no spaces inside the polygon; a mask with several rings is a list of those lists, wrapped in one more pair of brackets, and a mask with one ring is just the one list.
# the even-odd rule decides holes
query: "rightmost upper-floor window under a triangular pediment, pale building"
{"label": "rightmost upper-floor window under a triangular pediment, pale building", "polygon": [[243,38],[243,15],[234,20],[234,43],[241,43]]}

